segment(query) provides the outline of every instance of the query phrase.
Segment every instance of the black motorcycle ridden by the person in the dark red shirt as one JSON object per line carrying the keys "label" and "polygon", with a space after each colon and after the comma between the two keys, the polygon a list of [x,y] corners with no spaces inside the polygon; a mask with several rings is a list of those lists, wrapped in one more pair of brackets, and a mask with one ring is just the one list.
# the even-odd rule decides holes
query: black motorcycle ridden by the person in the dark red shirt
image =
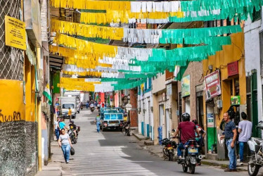
{"label": "black motorcycle ridden by the person in the dark red shirt", "polygon": [[203,159],[199,155],[198,148],[200,146],[195,139],[189,139],[186,144],[184,144],[184,149],[182,149],[183,156],[179,163],[182,165],[184,172],[187,172],[188,168],[191,174],[195,173],[195,166],[200,163]]}

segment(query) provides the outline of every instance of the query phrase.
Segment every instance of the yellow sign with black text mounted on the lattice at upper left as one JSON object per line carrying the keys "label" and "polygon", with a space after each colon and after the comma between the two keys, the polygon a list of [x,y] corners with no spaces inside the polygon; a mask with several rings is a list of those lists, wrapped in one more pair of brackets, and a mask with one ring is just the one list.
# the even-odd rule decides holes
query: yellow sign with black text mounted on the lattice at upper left
{"label": "yellow sign with black text mounted on the lattice at upper left", "polygon": [[10,16],[5,17],[6,46],[26,50],[25,23]]}

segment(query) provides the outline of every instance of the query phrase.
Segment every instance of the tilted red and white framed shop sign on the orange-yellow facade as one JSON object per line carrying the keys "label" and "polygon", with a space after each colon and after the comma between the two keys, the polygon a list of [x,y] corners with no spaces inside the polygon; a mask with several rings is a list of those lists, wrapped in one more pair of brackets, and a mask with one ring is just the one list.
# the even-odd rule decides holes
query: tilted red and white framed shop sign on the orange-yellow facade
{"label": "tilted red and white framed shop sign on the orange-yellow facade", "polygon": [[207,99],[221,94],[219,70],[205,76],[205,93]]}

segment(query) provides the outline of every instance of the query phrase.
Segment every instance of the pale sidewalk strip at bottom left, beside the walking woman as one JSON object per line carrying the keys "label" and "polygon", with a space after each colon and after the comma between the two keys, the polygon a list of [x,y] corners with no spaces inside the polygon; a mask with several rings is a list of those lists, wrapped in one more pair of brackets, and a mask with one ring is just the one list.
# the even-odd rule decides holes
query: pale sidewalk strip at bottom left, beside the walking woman
{"label": "pale sidewalk strip at bottom left, beside the walking woman", "polygon": [[[46,176],[46,175],[52,175],[52,176],[58,176],[62,175],[62,165],[63,157],[61,157],[61,150],[60,147],[58,147],[58,142],[53,141],[51,142],[51,158],[52,160],[49,161],[48,165],[44,165],[42,162],[42,170],[37,172],[36,176]],[[57,154],[56,154],[57,153]],[[57,159],[55,159],[57,158]]]}

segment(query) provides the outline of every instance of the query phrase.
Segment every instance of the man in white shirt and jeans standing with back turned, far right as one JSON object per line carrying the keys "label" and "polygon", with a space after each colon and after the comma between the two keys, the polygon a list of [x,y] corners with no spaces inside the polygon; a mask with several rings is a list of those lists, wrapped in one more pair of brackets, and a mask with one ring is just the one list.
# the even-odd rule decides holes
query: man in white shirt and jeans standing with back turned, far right
{"label": "man in white shirt and jeans standing with back turned, far right", "polygon": [[238,132],[239,132],[239,137],[238,137],[238,144],[239,144],[239,159],[238,163],[240,165],[243,165],[244,161],[244,146],[247,144],[248,139],[250,139],[252,135],[252,122],[247,120],[248,115],[244,112],[241,113],[241,118],[243,119],[241,122],[238,124]]}

